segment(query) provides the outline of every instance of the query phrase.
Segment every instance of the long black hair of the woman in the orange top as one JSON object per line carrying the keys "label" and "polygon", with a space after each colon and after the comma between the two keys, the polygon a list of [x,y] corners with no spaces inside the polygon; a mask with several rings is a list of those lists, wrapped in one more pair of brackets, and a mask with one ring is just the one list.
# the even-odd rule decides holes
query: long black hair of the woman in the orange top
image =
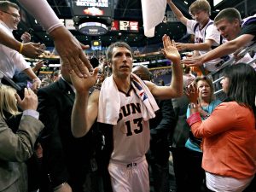
{"label": "long black hair of the woman in the orange top", "polygon": [[229,79],[227,96],[230,101],[253,109],[255,116],[256,72],[246,63],[238,63],[224,69],[224,77]]}

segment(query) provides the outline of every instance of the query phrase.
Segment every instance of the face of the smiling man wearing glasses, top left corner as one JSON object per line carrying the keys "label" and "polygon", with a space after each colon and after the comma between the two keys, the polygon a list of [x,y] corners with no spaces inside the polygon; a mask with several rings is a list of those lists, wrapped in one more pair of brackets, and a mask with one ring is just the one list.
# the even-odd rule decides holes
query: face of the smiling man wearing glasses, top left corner
{"label": "face of the smiling man wearing glasses, top left corner", "polygon": [[16,30],[18,28],[18,24],[20,22],[20,14],[18,9],[13,7],[9,7],[7,11],[0,11],[1,19],[3,22],[12,30]]}

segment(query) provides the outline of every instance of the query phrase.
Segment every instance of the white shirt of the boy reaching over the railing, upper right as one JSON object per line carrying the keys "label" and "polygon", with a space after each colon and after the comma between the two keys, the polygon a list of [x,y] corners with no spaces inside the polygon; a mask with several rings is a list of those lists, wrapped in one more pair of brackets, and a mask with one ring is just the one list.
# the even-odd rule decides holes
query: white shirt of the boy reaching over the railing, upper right
{"label": "white shirt of the boy reaching over the railing, upper right", "polygon": [[[211,22],[212,24],[210,24]],[[195,44],[204,43],[206,40],[213,40],[214,42],[212,46],[217,47],[220,42],[220,33],[218,32],[216,26],[213,25],[213,21],[209,20],[207,25],[204,26],[201,30],[199,26],[195,28],[195,25],[197,23],[198,22],[196,20],[188,20],[187,22],[187,32],[189,34],[195,34]],[[194,32],[194,29],[195,29],[195,32]],[[199,50],[199,54],[200,55],[206,54],[210,50],[211,49]],[[217,69],[215,65],[220,61],[222,61],[220,58],[207,61],[206,63],[204,63],[204,67],[210,72],[215,71]]]}

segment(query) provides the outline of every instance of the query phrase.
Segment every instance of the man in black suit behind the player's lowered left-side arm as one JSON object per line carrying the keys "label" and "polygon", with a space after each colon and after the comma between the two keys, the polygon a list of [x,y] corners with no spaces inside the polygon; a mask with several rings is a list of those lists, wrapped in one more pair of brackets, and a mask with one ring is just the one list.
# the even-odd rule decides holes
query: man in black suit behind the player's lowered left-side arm
{"label": "man in black suit behind the player's lowered left-side arm", "polygon": [[67,69],[61,67],[61,78],[38,90],[38,111],[45,129],[42,185],[40,191],[99,191],[96,148],[100,148],[96,127],[84,137],[71,132],[71,113],[75,90]]}

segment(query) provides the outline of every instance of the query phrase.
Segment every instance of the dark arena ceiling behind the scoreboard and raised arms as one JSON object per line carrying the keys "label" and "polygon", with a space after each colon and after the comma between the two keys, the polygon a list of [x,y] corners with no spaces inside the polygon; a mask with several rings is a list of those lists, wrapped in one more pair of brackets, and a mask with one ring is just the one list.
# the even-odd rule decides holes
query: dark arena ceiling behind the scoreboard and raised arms
{"label": "dark arena ceiling behind the scoreboard and raised arms", "polygon": [[[111,0],[108,0],[111,1]],[[210,0],[212,6],[212,18],[217,15],[216,9],[224,9],[227,7],[236,7],[240,9],[241,15],[250,15],[255,12],[255,0],[224,0],[222,3],[219,3],[217,7],[214,8],[213,0]],[[16,1],[13,1],[16,2]],[[113,3],[112,11],[113,20],[130,20],[137,21],[139,24],[138,32],[120,32],[120,31],[110,31],[101,36],[87,36],[78,32],[77,30],[71,30],[73,35],[79,39],[83,44],[90,44],[92,40],[101,40],[102,46],[108,46],[113,41],[124,40],[128,44],[134,47],[144,47],[149,44],[160,43],[161,37],[166,33],[171,38],[174,38],[176,41],[182,38],[186,34],[185,27],[177,21],[172,22],[163,22],[156,27],[154,38],[146,38],[143,35],[143,14],[142,14],[142,5],[141,0],[112,0]],[[183,11],[183,14],[189,17],[188,9],[189,5],[194,2],[194,0],[173,0],[179,9]],[[49,5],[55,11],[55,14],[58,15],[61,19],[73,19],[73,10],[71,4],[72,0],[48,0]],[[166,11],[170,11],[170,8],[167,7]],[[154,14],[154,13],[152,13]],[[29,28],[32,28],[32,41],[41,42],[47,46],[54,46],[52,40],[49,38],[48,34],[44,29],[39,26],[31,15],[26,13],[23,10],[22,12],[23,20],[20,22],[19,30],[15,31],[15,38],[20,38],[23,32],[28,31]],[[46,15],[47,16],[47,15]]]}

